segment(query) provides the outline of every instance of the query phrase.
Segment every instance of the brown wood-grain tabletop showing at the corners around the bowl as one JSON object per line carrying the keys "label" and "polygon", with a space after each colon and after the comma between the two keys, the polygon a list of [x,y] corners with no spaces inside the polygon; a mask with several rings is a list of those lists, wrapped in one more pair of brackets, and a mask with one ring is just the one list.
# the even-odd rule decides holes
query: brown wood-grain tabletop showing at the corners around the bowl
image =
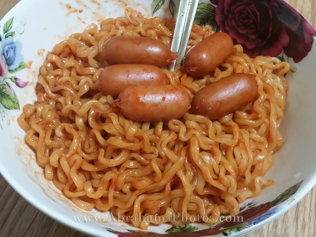
{"label": "brown wood-grain tabletop showing at the corners around the bowl", "polygon": [[[0,0],[0,19],[19,0]],[[288,0],[316,27],[315,0]],[[245,237],[316,236],[316,186],[291,210]],[[0,175],[0,237],[50,236],[84,237],[27,203]]]}

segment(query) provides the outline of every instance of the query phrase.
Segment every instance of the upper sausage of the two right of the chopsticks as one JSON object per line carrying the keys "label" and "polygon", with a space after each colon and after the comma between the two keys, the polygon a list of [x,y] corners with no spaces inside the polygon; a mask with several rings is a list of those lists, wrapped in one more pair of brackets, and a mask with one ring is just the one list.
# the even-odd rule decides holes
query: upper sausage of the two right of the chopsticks
{"label": "upper sausage of the two right of the chopsticks", "polygon": [[232,38],[218,32],[192,47],[184,59],[184,67],[191,76],[205,76],[222,65],[234,52]]}

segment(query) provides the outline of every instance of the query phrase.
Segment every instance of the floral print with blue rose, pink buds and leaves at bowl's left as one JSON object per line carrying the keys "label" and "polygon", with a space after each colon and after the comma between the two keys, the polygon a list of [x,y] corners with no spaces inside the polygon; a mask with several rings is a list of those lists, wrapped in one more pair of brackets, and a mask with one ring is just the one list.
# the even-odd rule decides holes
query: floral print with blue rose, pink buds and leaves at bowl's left
{"label": "floral print with blue rose, pink buds and leaves at bowl's left", "polygon": [[[23,27],[25,26],[24,23],[21,24]],[[19,40],[14,39],[21,35],[24,29],[22,33],[16,31],[16,35],[12,28],[13,17],[6,21],[0,30],[0,128],[2,128],[5,117],[9,117],[6,110],[20,109],[15,88],[24,88],[28,85],[28,82],[15,76],[18,71],[28,68],[27,63],[23,61],[22,44]],[[7,119],[10,124],[9,118]]]}

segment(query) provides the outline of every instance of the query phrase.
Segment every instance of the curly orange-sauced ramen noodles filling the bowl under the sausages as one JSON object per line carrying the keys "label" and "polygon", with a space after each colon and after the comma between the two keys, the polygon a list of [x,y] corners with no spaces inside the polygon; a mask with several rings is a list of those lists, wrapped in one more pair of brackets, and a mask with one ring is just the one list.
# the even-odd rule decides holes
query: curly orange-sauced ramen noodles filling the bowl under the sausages
{"label": "curly orange-sauced ramen noodles filling the bowl under the sausages", "polygon": [[[45,178],[84,210],[109,210],[147,229],[167,222],[173,212],[207,216],[238,213],[246,198],[257,197],[274,182],[263,176],[283,144],[279,126],[286,107],[285,74],[278,58],[254,59],[234,46],[233,55],[211,74],[193,78],[183,67],[162,69],[170,84],[191,97],[234,73],[256,74],[258,93],[242,109],[211,121],[189,112],[181,119],[140,122],[111,107],[114,99],[98,91],[98,76],[108,66],[100,56],[113,36],[142,36],[170,47],[174,19],[143,18],[127,8],[125,18],[91,24],[57,44],[40,68],[35,105],[18,119],[26,142],[36,151]],[[214,32],[193,25],[188,48]],[[177,109],[177,108],[174,108]],[[173,225],[183,224],[180,217]]]}

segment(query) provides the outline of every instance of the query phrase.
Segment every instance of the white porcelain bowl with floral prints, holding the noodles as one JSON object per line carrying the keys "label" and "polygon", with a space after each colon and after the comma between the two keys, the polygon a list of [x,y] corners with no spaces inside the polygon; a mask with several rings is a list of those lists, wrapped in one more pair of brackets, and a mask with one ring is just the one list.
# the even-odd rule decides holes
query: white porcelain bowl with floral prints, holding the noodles
{"label": "white porcelain bowl with floral prints, holding the noodles", "polygon": [[[0,172],[27,201],[72,228],[95,236],[240,236],[277,218],[295,205],[316,184],[314,144],[316,88],[316,31],[283,0],[203,0],[194,23],[210,24],[214,31],[230,34],[251,57],[269,55],[292,65],[288,108],[281,132],[283,149],[267,173],[275,184],[259,197],[240,205],[236,216],[223,216],[209,226],[191,224],[150,226],[147,233],[109,213],[86,212],[75,206],[51,182],[44,179],[25,133],[16,119],[21,108],[34,103],[39,67],[47,51],[70,34],[103,18],[124,15],[125,7],[145,17],[175,17],[179,0],[22,0],[0,21]],[[49,9],[49,11],[47,11]]]}

